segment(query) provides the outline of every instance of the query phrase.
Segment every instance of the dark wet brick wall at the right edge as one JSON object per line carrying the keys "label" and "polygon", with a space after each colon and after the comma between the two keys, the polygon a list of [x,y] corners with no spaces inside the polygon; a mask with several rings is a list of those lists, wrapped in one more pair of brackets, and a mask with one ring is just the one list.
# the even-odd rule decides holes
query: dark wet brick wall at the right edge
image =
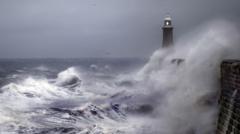
{"label": "dark wet brick wall at the right edge", "polygon": [[217,134],[240,134],[240,61],[221,64],[220,112]]}

